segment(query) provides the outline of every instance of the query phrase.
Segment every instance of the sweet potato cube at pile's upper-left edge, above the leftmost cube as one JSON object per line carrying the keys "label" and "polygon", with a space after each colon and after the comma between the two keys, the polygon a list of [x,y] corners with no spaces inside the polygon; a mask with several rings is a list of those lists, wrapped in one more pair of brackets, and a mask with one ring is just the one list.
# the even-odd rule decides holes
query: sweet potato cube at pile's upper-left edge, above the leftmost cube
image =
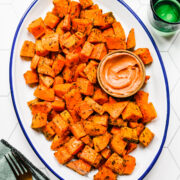
{"label": "sweet potato cube at pile's upper-left edge, above the leftmost cube", "polygon": [[38,39],[42,35],[45,34],[45,25],[42,18],[38,18],[35,21],[33,21],[29,27],[28,31],[36,38]]}

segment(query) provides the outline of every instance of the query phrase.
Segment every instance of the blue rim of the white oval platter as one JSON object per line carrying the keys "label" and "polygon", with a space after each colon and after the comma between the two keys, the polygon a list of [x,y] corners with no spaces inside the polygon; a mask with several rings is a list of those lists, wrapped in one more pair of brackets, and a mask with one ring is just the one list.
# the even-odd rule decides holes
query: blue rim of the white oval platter
{"label": "blue rim of the white oval platter", "polygon": [[[14,91],[13,91],[13,80],[12,80],[12,63],[13,63],[13,55],[14,55],[14,48],[15,48],[15,44],[16,44],[16,40],[17,40],[17,36],[18,36],[18,33],[19,33],[19,30],[22,26],[22,23],[24,22],[24,19],[26,18],[27,14],[29,13],[29,11],[34,7],[34,5],[38,2],[39,0],[34,0],[32,2],[32,4],[29,6],[29,8],[26,10],[25,14],[23,15],[23,17],[21,18],[19,24],[18,24],[18,27],[17,27],[17,30],[15,32],[15,35],[14,35],[14,40],[13,40],[13,44],[12,44],[12,48],[11,48],[11,56],[10,56],[10,64],[9,64],[9,82],[10,82],[10,90],[11,90],[11,98],[12,98],[12,102],[13,102],[13,106],[14,106],[14,110],[16,112],[16,116],[17,116],[17,119],[19,121],[19,124],[21,126],[21,129],[27,139],[27,141],[29,142],[30,146],[32,147],[32,149],[34,150],[34,152],[36,153],[36,155],[38,156],[38,158],[44,163],[44,165],[56,176],[58,177],[59,179],[62,179],[62,177],[60,177],[47,163],[46,161],[41,157],[41,155],[37,152],[36,148],[34,147],[34,145],[32,144],[28,134],[26,133],[25,129],[24,129],[24,126],[21,122],[21,119],[20,119],[20,116],[19,116],[19,113],[18,113],[18,110],[17,110],[17,107],[16,107],[16,102],[15,102],[15,97],[14,97]],[[159,61],[160,61],[160,64],[161,64],[161,68],[162,68],[162,71],[163,71],[163,75],[164,75],[164,81],[165,81],[165,86],[166,86],[166,97],[167,97],[167,116],[166,116],[166,126],[165,126],[165,130],[164,130],[164,135],[163,135],[163,139],[162,139],[162,143],[161,143],[161,146],[156,154],[156,156],[154,157],[154,159],[152,160],[151,164],[149,165],[149,167],[146,169],[146,171],[142,174],[141,177],[139,177],[139,180],[142,180],[149,172],[150,170],[152,169],[152,167],[154,166],[154,164],[156,163],[156,161],[158,160],[161,152],[162,152],[162,149],[163,149],[163,146],[164,146],[164,143],[165,143],[165,140],[166,140],[166,136],[167,136],[167,131],[168,131],[168,126],[169,126],[169,116],[170,116],[170,96],[169,96],[169,85],[168,85],[168,79],[167,79],[167,75],[166,75],[166,70],[165,70],[165,67],[164,67],[164,64],[163,64],[163,61],[162,61],[162,58],[161,58],[161,55],[160,55],[160,52],[158,50],[158,47],[153,39],[153,37],[151,36],[150,32],[148,31],[147,27],[144,25],[144,23],[142,22],[142,20],[136,15],[136,13],[123,1],[123,0],[117,0],[119,3],[121,3],[124,7],[126,7],[129,12],[138,20],[138,22],[141,24],[141,26],[143,27],[143,29],[146,31],[147,35],[149,36],[149,39],[151,40],[153,46],[154,46],[154,49],[156,50],[156,53],[158,55],[158,58],[159,58]]]}

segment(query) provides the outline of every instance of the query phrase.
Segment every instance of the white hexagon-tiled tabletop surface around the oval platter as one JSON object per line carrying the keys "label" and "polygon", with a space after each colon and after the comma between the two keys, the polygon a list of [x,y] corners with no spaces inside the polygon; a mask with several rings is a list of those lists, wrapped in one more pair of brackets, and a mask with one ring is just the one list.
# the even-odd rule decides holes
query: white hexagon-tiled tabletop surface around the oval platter
{"label": "white hexagon-tiled tabletop surface around the oval platter", "polygon": [[[12,39],[20,17],[32,0],[0,0],[0,138],[6,139],[25,154],[50,179],[57,178],[42,164],[24,137],[11,102],[9,90],[9,53]],[[167,70],[171,115],[167,140],[156,165],[146,180],[180,180],[180,33],[170,38],[160,37],[147,20],[149,0],[125,0],[140,16],[153,35]]]}

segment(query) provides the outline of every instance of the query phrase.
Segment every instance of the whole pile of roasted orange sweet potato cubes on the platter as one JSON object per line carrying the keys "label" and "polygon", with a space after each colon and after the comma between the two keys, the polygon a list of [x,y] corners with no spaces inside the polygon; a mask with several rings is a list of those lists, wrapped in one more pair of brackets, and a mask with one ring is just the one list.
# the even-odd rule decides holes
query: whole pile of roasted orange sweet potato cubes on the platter
{"label": "whole pile of roasted orange sweet potato cubes on the platter", "polygon": [[129,154],[154,137],[145,125],[156,111],[144,91],[126,100],[107,95],[98,85],[97,67],[112,50],[131,50],[144,64],[152,63],[151,54],[147,48],[134,51],[134,29],[126,40],[113,13],[103,14],[92,0],[53,4],[44,20],[28,27],[35,43],[25,41],[21,49],[21,57],[31,60],[26,83],[37,85],[36,99],[28,102],[32,128],[52,140],[60,164],[81,175],[94,168],[95,180],[129,175],[136,165]]}

